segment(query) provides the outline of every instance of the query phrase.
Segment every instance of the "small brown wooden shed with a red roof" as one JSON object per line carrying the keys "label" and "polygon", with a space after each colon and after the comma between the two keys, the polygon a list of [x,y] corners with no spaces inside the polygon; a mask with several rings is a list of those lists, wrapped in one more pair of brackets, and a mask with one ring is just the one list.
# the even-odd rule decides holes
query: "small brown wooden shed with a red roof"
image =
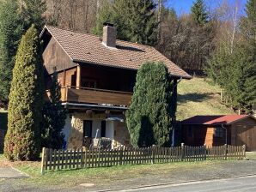
{"label": "small brown wooden shed with a red roof", "polygon": [[182,142],[189,146],[246,145],[256,150],[256,118],[248,115],[194,116],[180,122]]}

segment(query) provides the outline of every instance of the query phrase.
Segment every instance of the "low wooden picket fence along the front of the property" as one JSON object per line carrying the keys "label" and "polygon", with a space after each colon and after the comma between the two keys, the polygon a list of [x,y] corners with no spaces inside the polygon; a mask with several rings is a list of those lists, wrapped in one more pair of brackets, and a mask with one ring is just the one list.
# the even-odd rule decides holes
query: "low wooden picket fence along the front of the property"
{"label": "low wooden picket fence along the front of the property", "polygon": [[156,164],[211,159],[243,159],[245,146],[144,147],[119,149],[52,150],[43,148],[41,173],[46,170],[79,169],[113,165]]}

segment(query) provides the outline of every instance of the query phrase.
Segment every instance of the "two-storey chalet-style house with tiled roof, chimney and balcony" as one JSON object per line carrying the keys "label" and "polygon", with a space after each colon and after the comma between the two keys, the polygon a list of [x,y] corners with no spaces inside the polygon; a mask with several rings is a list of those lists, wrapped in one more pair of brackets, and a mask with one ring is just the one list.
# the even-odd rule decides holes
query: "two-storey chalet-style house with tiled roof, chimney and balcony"
{"label": "two-storey chalet-style house with tiled roof, chimney and balcony", "polygon": [[[113,147],[130,145],[125,111],[142,63],[165,63],[175,84],[191,78],[154,47],[118,40],[116,33],[110,23],[105,23],[102,38],[52,26],[40,33],[46,88],[55,69],[61,100],[69,111],[64,126],[66,147],[82,147],[88,139],[101,137],[113,140]],[[174,99],[176,94],[177,86]]]}

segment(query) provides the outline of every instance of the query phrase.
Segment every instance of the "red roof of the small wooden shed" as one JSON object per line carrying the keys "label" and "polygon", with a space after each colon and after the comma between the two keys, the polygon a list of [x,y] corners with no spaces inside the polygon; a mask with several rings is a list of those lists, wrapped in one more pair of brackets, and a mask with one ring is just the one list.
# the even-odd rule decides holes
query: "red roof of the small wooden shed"
{"label": "red roof of the small wooden shed", "polygon": [[221,116],[194,116],[187,118],[186,120],[180,122],[181,124],[205,124],[205,125],[222,125],[222,124],[232,124],[237,121],[245,119],[248,115],[221,115]]}

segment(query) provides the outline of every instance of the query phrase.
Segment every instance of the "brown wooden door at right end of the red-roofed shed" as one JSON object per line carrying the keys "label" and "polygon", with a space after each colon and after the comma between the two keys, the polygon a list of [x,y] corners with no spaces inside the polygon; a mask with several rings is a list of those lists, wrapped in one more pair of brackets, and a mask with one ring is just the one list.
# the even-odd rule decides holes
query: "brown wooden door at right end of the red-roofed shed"
{"label": "brown wooden door at right end of the red-roofed shed", "polygon": [[237,125],[236,131],[236,145],[246,145],[247,151],[256,151],[256,127],[253,125]]}

